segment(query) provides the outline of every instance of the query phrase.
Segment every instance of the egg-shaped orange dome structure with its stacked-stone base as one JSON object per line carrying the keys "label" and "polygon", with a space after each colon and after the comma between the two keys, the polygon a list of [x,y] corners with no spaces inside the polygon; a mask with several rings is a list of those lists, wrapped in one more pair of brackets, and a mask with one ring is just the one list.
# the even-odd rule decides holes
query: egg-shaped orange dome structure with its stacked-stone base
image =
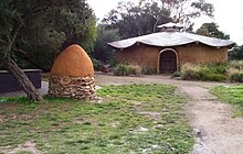
{"label": "egg-shaped orange dome structure with its stacked-stone base", "polygon": [[55,59],[49,80],[49,96],[86,100],[96,98],[93,63],[81,46],[68,46]]}

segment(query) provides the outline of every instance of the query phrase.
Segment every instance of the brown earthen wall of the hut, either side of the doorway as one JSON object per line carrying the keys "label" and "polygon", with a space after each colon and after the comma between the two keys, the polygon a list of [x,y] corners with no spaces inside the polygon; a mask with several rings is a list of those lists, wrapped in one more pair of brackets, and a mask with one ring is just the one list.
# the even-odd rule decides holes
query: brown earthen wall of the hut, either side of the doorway
{"label": "brown earthen wall of the hut, either side of the doorway", "polygon": [[178,53],[178,68],[186,63],[215,64],[228,61],[228,47],[216,48],[196,43],[175,47],[157,47],[144,44],[134,45],[129,48],[117,51],[115,61],[157,68],[159,66],[159,53],[165,48],[176,50]]}

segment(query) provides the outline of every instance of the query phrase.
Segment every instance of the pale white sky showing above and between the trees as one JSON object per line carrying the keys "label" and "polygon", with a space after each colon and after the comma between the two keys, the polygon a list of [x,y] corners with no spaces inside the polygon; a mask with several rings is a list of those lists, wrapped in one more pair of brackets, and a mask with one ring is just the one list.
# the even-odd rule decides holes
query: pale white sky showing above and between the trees
{"label": "pale white sky showing above and between the trees", "polygon": [[[87,0],[98,19],[103,19],[120,0]],[[137,3],[139,0],[130,0]],[[196,20],[196,30],[204,22],[215,22],[219,29],[230,34],[231,40],[243,45],[243,1],[242,0],[205,0],[214,6],[214,19]]]}

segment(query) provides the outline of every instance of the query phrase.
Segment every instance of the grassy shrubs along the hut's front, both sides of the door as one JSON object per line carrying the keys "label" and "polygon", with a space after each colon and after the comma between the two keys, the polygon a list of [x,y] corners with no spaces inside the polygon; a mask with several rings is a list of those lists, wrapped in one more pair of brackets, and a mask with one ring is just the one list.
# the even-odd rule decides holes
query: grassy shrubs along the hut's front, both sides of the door
{"label": "grassy shrubs along the hut's front, both sides of the door", "polygon": [[[156,74],[156,68],[141,67],[138,65],[117,64],[113,70],[117,76],[139,76],[141,74]],[[184,80],[203,81],[232,81],[243,82],[243,61],[223,64],[190,64],[181,66],[172,77],[180,77]]]}

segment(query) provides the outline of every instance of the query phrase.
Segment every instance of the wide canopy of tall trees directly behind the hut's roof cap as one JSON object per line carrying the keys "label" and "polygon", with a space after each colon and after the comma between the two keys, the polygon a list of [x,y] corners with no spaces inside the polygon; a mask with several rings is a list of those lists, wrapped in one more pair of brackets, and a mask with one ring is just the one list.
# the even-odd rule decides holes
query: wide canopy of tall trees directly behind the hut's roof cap
{"label": "wide canopy of tall trees directly behind the hut's roof cap", "polygon": [[123,37],[131,37],[157,32],[159,24],[176,22],[187,29],[193,25],[193,19],[201,15],[213,16],[214,8],[204,0],[140,0],[119,2],[103,23],[108,29],[119,30]]}

